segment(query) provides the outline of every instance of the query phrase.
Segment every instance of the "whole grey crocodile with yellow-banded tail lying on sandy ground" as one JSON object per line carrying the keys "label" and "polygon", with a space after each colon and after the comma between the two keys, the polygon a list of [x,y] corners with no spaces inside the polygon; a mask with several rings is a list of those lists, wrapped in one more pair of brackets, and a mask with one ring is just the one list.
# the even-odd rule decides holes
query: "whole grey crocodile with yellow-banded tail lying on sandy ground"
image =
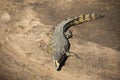
{"label": "whole grey crocodile with yellow-banded tail lying on sandy ground", "polygon": [[51,53],[54,53],[53,59],[57,71],[60,70],[63,62],[71,55],[69,52],[69,38],[72,37],[72,32],[68,29],[71,26],[99,19],[101,17],[103,17],[103,15],[97,15],[95,13],[80,15],[79,17],[68,18],[55,27],[50,38],[50,48]]}

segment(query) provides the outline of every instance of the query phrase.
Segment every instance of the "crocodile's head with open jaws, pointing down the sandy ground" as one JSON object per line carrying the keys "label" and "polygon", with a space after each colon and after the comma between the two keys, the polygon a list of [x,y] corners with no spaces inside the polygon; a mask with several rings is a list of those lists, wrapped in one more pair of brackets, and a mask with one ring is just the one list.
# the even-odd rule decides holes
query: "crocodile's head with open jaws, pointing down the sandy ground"
{"label": "crocodile's head with open jaws, pointing down the sandy ground", "polygon": [[66,54],[57,53],[54,55],[54,64],[57,71],[59,71],[61,67],[64,65],[66,58],[67,58]]}

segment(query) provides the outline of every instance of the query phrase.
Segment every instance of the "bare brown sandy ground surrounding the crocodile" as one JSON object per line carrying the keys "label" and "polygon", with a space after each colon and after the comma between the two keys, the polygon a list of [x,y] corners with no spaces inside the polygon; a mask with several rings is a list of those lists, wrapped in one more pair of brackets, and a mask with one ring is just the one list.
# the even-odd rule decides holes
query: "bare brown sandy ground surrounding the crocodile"
{"label": "bare brown sandy ground surrounding the crocodile", "polygon": [[[56,71],[49,29],[93,12],[105,17],[70,28],[78,58]],[[120,80],[120,1],[0,0],[0,80]]]}

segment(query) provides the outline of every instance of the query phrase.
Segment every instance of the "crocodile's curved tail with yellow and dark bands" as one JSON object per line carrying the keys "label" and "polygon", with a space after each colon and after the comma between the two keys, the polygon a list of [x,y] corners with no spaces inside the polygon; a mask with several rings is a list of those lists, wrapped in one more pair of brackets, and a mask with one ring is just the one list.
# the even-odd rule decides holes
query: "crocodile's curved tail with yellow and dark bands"
{"label": "crocodile's curved tail with yellow and dark bands", "polygon": [[67,29],[70,28],[71,26],[78,25],[83,22],[88,22],[91,20],[99,19],[102,17],[104,17],[104,15],[97,15],[95,13],[80,15],[79,17],[72,18],[72,20],[64,26],[64,31],[66,32]]}

